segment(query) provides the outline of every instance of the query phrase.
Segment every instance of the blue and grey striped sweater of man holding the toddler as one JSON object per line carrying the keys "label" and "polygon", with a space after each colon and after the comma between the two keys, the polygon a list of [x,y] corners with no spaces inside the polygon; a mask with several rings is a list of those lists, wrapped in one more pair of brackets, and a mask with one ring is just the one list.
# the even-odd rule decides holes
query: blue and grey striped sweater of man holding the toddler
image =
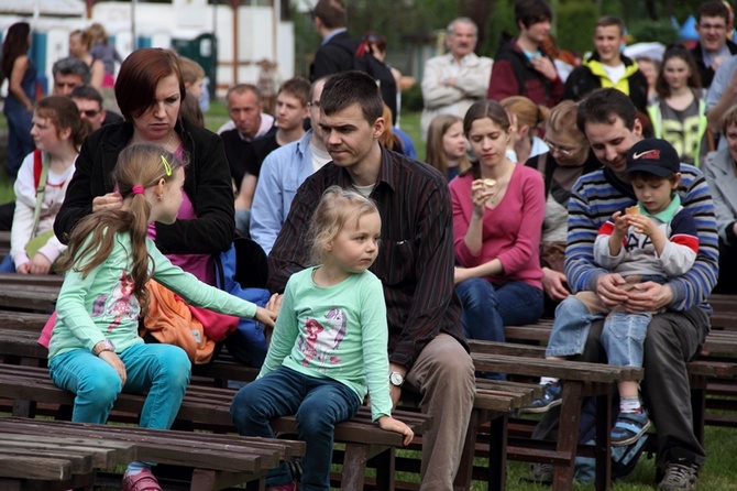
{"label": "blue and grey striped sweater of man holding the toddler", "polygon": [[[696,221],[698,254],[686,274],[668,280],[673,292],[669,308],[688,310],[701,306],[711,313],[705,301],[716,284],[719,257],[714,204],[704,175],[691,165],[681,164],[678,193]],[[585,174],[575,183],[568,208],[565,248],[565,276],[574,293],[596,290],[597,279],[609,273],[594,262],[596,233],[612,214],[636,201],[631,186],[608,168]]]}

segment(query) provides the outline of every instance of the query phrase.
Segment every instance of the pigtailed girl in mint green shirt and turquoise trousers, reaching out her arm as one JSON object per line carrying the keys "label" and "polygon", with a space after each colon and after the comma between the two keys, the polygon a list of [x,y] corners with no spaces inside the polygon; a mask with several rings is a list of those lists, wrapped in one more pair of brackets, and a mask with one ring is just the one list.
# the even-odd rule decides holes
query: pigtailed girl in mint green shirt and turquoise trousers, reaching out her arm
{"label": "pigtailed girl in mint green shirt and turquoise trousers, reaching out her arm", "polygon": [[[184,168],[163,148],[134,144],[120,153],[113,179],[120,207],[84,218],[69,238],[66,271],[48,346],[54,383],[76,394],[72,419],[103,424],[120,392],[147,391],[141,426],[168,429],[189,382],[190,362],[174,345],[145,345],[139,318],[146,282],[156,280],[188,304],[273,326],[275,314],[198,281],[172,265],[146,237],[148,223],[173,223],[182,205]],[[150,465],[132,462],[123,490],[161,489]]]}

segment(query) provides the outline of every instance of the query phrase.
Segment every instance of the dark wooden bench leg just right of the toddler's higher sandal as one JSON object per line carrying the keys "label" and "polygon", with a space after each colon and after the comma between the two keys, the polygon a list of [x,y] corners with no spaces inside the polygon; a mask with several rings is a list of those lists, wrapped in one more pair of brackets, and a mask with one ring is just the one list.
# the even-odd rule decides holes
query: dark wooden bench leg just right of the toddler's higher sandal
{"label": "dark wooden bench leg just right of the toddler's higher sandal", "polygon": [[569,491],[573,485],[574,458],[579,445],[579,422],[581,419],[581,390],[583,382],[566,380],[563,383],[563,403],[560,410],[560,430],[557,450],[570,457],[566,466],[556,466],[553,491]]}

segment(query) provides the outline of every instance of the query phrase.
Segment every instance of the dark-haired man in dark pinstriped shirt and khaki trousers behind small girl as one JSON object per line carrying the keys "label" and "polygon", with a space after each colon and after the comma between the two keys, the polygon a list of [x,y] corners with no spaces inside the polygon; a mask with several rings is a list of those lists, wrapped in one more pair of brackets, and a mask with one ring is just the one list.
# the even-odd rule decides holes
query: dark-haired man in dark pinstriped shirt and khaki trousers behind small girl
{"label": "dark-haired man in dark pinstriped shirt and khaki trousers behind small girl", "polygon": [[432,428],[422,435],[421,490],[453,489],[475,394],[473,362],[453,292],[453,228],[448,182],[433,167],[378,143],[382,97],[363,72],[333,75],[320,96],[320,130],[332,162],[297,190],[268,255],[272,292],[309,265],[310,218],[331,185],[371,197],[382,216],[371,271],[384,285],[392,401],[403,382],[422,394]]}

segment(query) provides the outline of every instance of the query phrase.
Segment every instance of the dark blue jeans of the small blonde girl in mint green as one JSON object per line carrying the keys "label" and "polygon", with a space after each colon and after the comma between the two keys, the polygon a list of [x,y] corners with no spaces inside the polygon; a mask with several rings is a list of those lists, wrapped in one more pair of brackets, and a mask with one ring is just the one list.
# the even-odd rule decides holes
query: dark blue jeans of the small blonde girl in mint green
{"label": "dark blue jeans of the small blonde girl in mint green", "polygon": [[[268,422],[294,414],[299,439],[307,443],[299,489],[329,491],[334,426],[353,417],[361,402],[355,392],[336,380],[280,367],[238,391],[230,415],[241,435],[274,438]],[[290,481],[289,467],[280,462],[268,471],[266,485]]]}

